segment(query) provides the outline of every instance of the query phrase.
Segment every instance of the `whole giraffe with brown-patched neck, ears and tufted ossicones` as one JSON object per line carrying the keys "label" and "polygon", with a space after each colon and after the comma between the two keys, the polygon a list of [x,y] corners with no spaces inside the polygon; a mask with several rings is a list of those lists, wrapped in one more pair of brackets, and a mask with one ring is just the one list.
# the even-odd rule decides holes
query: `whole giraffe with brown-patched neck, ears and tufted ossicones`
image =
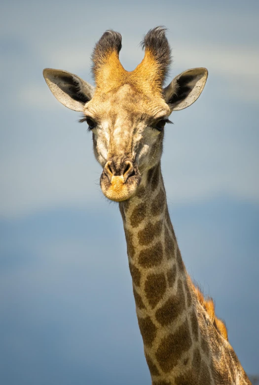
{"label": "whole giraffe with brown-patched neck, ears and tufted ossicones", "polygon": [[172,111],[201,94],[206,68],[189,69],[163,88],[171,63],[166,29],[145,36],[134,71],[119,61],[121,35],[106,31],[93,54],[96,87],[45,69],[52,94],[83,112],[103,167],[104,195],[118,202],[140,333],[152,385],[251,384],[228,342],[214,302],[188,276],[170,220],[160,160]]}

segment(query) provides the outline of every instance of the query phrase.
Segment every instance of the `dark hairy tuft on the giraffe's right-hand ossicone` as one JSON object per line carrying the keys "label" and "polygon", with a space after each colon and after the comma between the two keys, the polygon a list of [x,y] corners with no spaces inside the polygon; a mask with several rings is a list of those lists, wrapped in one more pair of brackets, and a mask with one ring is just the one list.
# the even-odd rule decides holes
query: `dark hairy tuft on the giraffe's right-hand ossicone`
{"label": "dark hairy tuft on the giraffe's right-hand ossicone", "polygon": [[172,63],[171,48],[165,36],[167,29],[162,26],[150,29],[141,42],[141,47],[152,53],[154,59],[160,66],[160,70],[166,78],[169,66]]}

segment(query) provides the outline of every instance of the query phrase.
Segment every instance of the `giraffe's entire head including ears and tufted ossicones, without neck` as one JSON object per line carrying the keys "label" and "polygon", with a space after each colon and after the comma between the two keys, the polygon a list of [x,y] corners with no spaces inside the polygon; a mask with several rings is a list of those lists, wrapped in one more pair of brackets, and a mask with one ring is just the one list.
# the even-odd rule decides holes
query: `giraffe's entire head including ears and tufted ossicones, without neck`
{"label": "giraffe's entire head including ears and tufted ossicones, without neck", "polygon": [[93,133],[94,153],[103,167],[100,184],[111,200],[133,196],[148,170],[161,158],[169,115],[192,104],[207,80],[206,68],[187,70],[163,88],[171,50],[165,29],[156,27],[142,42],[145,56],[134,71],[119,61],[121,35],[106,31],[93,54],[96,87],[63,70],[46,68],[52,94],[66,107],[83,112]]}

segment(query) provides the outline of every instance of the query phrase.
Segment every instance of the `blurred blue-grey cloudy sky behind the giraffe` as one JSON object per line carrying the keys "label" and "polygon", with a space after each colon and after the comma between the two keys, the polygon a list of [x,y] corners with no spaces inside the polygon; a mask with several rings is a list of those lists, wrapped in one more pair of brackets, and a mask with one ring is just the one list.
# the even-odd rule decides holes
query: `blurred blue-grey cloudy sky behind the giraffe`
{"label": "blurred blue-grey cloudy sky behind the giraffe", "polygon": [[171,219],[188,272],[215,299],[244,369],[259,373],[258,4],[1,2],[0,384],[150,384],[118,206],[100,191],[87,125],[42,69],[92,82],[92,48],[111,28],[133,70],[157,25],[171,78],[209,70],[165,129]]}

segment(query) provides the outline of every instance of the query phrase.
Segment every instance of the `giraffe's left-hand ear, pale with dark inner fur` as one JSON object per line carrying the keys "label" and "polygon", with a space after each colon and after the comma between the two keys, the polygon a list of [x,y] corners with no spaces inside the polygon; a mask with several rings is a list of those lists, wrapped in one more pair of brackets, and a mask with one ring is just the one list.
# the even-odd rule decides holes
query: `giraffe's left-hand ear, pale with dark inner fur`
{"label": "giraffe's left-hand ear, pale with dark inner fur", "polygon": [[83,111],[93,96],[94,87],[70,72],[45,68],[43,76],[58,101],[74,111]]}

